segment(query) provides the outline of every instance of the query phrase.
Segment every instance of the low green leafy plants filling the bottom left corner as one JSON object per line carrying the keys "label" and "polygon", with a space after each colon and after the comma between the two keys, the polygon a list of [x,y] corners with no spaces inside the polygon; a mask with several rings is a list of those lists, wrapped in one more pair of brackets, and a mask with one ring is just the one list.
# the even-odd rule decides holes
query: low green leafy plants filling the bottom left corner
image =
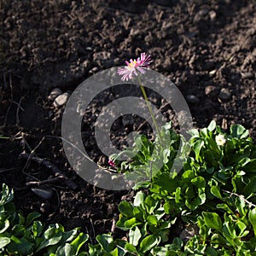
{"label": "low green leafy plants filling the bottom left corner", "polygon": [[38,212],[31,212],[25,218],[16,212],[13,190],[6,184],[0,199],[0,253],[1,255],[84,255],[79,253],[88,235],[79,229],[65,232],[61,224],[44,226],[36,220]]}

